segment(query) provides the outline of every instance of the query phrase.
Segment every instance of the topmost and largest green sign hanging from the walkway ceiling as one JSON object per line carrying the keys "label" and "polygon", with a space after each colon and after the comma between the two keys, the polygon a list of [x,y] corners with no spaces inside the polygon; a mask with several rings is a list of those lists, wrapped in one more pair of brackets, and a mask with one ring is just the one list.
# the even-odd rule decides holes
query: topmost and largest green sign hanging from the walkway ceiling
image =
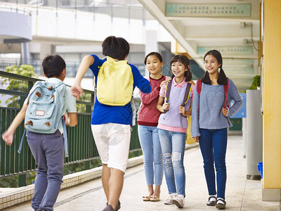
{"label": "topmost and largest green sign hanging from the walkway ceiling", "polygon": [[251,17],[251,4],[166,4],[170,17]]}

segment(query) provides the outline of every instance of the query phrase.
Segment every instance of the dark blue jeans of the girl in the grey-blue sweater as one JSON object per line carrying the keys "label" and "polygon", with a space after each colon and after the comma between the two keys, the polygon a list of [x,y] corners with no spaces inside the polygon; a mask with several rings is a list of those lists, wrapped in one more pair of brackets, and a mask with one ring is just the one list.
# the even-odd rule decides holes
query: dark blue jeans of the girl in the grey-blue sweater
{"label": "dark blue jeans of the girl in the grey-blue sweater", "polygon": [[200,134],[199,144],[204,160],[204,172],[209,196],[216,195],[217,186],[217,197],[224,199],[226,193],[226,146],[228,143],[228,131],[226,128],[200,129]]}

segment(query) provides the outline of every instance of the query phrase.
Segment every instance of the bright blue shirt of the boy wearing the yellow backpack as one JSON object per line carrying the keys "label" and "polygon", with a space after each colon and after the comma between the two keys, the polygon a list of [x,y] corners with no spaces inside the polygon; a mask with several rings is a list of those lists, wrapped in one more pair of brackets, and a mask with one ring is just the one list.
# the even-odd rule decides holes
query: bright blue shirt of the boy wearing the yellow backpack
{"label": "bright blue shirt of the boy wearing the yellow backpack", "polygon": [[[93,65],[90,66],[90,69],[95,76],[95,81],[97,84],[98,71],[100,70],[101,65],[105,60],[98,58],[98,56],[92,54],[95,59]],[[151,87],[148,79],[145,79],[141,73],[138,71],[136,66],[131,65],[131,71],[133,73],[133,89],[138,87],[143,93],[150,93]],[[107,106],[102,104],[96,98],[96,103],[93,107],[93,114],[91,117],[91,124],[107,124],[107,123],[118,123],[118,124],[130,124],[132,125],[133,120],[133,111],[131,108],[131,103],[126,104],[125,106]]]}

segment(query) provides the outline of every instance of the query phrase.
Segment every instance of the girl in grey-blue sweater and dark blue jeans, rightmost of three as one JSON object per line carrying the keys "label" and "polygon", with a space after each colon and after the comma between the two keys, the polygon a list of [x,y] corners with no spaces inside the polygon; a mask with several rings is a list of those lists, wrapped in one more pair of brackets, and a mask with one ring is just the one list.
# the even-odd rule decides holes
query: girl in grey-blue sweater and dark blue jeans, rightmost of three
{"label": "girl in grey-blue sweater and dark blue jeans, rightmost of three", "polygon": [[[227,128],[232,127],[228,117],[240,110],[243,101],[233,81],[228,79],[223,72],[223,59],[219,51],[208,51],[204,56],[204,66],[207,71],[202,78],[200,95],[197,91],[197,84],[195,85],[191,136],[196,142],[199,142],[204,160],[204,173],[209,191],[207,205],[216,205],[218,209],[225,209]],[[230,108],[223,108],[225,100],[223,85],[226,84],[228,84],[226,104],[229,105],[232,100],[235,102]]]}

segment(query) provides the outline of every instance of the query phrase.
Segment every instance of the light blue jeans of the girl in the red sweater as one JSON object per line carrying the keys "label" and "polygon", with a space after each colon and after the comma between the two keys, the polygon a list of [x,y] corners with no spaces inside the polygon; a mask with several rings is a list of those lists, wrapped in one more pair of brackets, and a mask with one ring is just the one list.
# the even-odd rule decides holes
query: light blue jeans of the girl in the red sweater
{"label": "light blue jeans of the girl in the red sweater", "polygon": [[[138,125],[138,137],[143,150],[143,164],[148,186],[161,186],[163,179],[163,158],[157,127]],[[154,169],[153,169],[154,163]]]}

